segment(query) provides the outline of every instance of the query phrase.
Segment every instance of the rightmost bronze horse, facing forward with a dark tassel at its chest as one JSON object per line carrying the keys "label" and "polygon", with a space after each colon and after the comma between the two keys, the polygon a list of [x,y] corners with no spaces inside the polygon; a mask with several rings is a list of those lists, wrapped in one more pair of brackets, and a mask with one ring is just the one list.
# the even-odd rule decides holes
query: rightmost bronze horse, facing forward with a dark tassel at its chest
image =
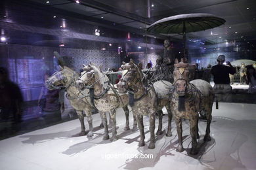
{"label": "rightmost bronze horse, facing forward with a dark tassel at its chest", "polygon": [[190,154],[197,154],[198,135],[198,112],[204,110],[207,117],[207,127],[204,141],[211,141],[210,124],[211,111],[214,101],[214,93],[211,85],[205,80],[196,79],[188,82],[189,71],[186,59],[175,59],[174,88],[171,95],[171,111],[174,114],[179,137],[178,152],[183,151],[182,146],[182,118],[190,122],[190,135],[192,137],[192,149]]}

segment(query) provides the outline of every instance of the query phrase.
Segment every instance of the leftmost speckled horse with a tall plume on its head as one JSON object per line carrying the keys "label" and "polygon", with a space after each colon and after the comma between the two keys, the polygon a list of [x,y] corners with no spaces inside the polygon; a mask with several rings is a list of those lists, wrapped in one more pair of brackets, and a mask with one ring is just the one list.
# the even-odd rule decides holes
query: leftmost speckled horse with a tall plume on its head
{"label": "leftmost speckled horse with a tall plume on its head", "polygon": [[89,133],[87,134],[87,137],[92,137],[93,118],[91,116],[91,110],[93,109],[93,105],[89,97],[89,90],[84,90],[81,92],[81,90],[75,86],[75,80],[77,80],[79,74],[64,65],[64,61],[62,61],[57,52],[54,52],[54,56],[56,56],[59,59],[59,63],[61,63],[59,65],[60,71],[57,71],[50,76],[45,82],[45,86],[47,86],[49,90],[56,88],[64,88],[66,90],[67,98],[70,100],[70,104],[77,112],[77,116],[81,123],[81,132],[79,135],[85,135],[85,124],[83,120],[84,112],[87,116],[87,121],[89,124]]}

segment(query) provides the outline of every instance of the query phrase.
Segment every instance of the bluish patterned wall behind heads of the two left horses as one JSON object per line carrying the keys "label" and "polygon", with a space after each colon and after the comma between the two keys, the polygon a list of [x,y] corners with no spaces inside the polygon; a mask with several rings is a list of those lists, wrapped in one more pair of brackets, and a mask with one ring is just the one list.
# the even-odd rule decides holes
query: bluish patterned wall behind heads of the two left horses
{"label": "bluish patterned wall behind heads of the two left horses", "polygon": [[77,48],[60,48],[60,56],[65,56],[64,61],[68,66],[79,71],[83,64],[90,62],[96,65],[102,65],[102,70],[118,69],[120,67],[120,58],[117,52],[106,50],[85,50]]}

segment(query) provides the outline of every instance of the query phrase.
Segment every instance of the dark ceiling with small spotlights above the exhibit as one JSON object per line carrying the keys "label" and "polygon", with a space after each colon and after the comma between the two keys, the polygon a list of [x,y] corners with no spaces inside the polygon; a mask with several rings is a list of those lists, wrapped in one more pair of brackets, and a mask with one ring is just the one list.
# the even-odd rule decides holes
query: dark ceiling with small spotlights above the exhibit
{"label": "dark ceiling with small spotlights above the exhibit", "polygon": [[[220,27],[189,33],[188,39],[210,42],[250,41],[256,39],[255,0],[20,0],[55,12],[62,17],[85,20],[106,27],[144,34],[150,24],[177,14],[209,13],[226,20]],[[158,36],[158,35],[155,35]],[[179,35],[168,35],[180,39]]]}

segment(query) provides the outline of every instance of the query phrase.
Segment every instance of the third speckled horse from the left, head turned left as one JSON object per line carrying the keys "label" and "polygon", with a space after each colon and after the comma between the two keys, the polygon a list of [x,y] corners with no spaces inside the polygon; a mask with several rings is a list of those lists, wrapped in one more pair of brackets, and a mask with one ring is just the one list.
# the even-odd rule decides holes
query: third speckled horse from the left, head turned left
{"label": "third speckled horse from the left, head turned left", "polygon": [[155,82],[149,88],[144,85],[144,75],[142,74],[141,63],[137,65],[133,59],[129,63],[122,65],[123,76],[117,84],[119,92],[129,92],[129,105],[132,107],[133,112],[136,114],[138,126],[140,129],[140,142],[139,146],[144,146],[145,134],[143,116],[150,117],[150,144],[148,148],[155,148],[155,120],[156,115],[159,115],[159,126],[157,134],[162,134],[162,114],[161,109],[165,106],[168,111],[168,131],[167,136],[171,136],[171,119],[172,114],[169,107],[169,90],[172,87],[170,82],[161,80]]}

